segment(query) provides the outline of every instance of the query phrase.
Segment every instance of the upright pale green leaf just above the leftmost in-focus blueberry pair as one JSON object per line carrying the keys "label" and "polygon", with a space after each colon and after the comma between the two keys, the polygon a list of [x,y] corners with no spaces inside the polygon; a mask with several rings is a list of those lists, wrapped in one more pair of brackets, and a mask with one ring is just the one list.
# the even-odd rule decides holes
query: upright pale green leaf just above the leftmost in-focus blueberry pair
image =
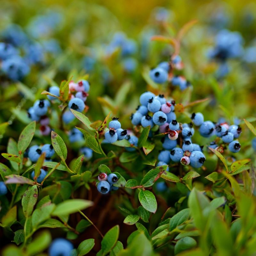
{"label": "upright pale green leaf just above the leftmost in-focus blueberry pair", "polygon": [[36,131],[36,121],[28,124],[24,130],[20,133],[20,137],[18,140],[18,150],[23,153],[29,146],[31,140]]}

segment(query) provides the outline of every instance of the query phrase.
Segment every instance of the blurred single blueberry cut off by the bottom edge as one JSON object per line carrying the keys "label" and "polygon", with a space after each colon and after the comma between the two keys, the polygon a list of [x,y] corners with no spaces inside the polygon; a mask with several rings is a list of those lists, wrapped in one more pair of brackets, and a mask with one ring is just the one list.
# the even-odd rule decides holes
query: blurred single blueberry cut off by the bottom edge
{"label": "blurred single blueberry cut off by the bottom edge", "polygon": [[73,244],[64,238],[56,238],[49,247],[49,256],[70,256]]}

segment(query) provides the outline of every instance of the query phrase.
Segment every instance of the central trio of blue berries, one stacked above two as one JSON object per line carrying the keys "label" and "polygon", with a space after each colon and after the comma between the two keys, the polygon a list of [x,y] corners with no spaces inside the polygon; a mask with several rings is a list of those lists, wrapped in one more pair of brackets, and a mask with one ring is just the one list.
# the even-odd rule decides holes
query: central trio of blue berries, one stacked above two
{"label": "central trio of blue berries, one stacked above two", "polygon": [[105,132],[105,140],[108,143],[114,143],[117,140],[124,140],[127,130],[121,128],[121,123],[117,117],[113,117],[112,121],[108,124],[109,131]]}

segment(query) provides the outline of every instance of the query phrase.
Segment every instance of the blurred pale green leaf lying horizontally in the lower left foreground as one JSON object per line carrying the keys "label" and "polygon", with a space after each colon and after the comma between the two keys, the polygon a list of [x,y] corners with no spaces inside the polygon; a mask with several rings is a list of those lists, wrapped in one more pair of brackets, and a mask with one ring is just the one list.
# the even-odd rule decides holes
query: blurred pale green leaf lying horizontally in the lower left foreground
{"label": "blurred pale green leaf lying horizontally in the lower left foreground", "polygon": [[84,199],[69,199],[58,204],[55,210],[52,212],[53,216],[68,215],[71,213],[84,210],[92,206],[93,202]]}

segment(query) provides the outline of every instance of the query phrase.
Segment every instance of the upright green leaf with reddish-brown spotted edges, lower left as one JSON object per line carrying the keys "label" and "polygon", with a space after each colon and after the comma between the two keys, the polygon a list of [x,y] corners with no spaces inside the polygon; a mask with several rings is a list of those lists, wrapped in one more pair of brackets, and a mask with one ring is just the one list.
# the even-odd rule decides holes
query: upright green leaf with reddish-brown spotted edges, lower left
{"label": "upright green leaf with reddish-brown spotted edges, lower left", "polygon": [[26,217],[30,216],[30,214],[33,212],[37,197],[38,191],[36,185],[28,187],[21,200],[22,209]]}

